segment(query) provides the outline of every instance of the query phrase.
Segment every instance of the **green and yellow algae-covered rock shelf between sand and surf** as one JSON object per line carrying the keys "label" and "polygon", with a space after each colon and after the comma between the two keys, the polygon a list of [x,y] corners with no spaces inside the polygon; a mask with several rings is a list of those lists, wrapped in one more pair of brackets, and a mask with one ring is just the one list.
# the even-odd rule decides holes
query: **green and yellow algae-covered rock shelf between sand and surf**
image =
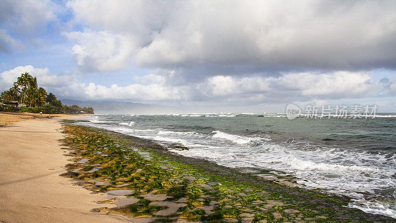
{"label": "green and yellow algae-covered rock shelf between sand and surf", "polygon": [[[82,180],[81,185],[92,191],[133,190],[133,194],[126,196],[140,199],[126,207],[93,211],[135,218],[153,217],[156,218],[154,222],[173,222],[177,218],[203,222],[221,222],[225,218],[242,221],[246,216],[254,216],[252,222],[393,220],[345,208],[343,206],[349,202],[345,197],[285,186],[235,169],[181,158],[156,145],[141,146],[128,136],[68,124],[64,124],[63,129],[67,136],[61,141],[70,148],[68,156],[74,157],[71,161],[75,163],[67,165],[69,171],[61,175]],[[89,161],[77,163],[81,159]],[[263,171],[270,174],[270,171]],[[108,183],[97,185],[92,183],[95,181]],[[157,216],[155,213],[169,207],[166,203],[150,205],[151,201],[141,196],[148,193],[164,194],[169,196],[164,202],[186,205],[168,216]]]}

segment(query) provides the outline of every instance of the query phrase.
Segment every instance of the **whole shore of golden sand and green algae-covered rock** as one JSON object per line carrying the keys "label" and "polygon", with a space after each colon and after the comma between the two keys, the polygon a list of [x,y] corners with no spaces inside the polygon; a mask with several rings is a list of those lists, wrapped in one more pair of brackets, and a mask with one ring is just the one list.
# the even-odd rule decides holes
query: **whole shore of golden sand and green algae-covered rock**
{"label": "whole shore of golden sand and green algae-covered rock", "polygon": [[[83,116],[0,128],[1,222],[396,222],[346,208],[347,197],[169,153],[153,141],[56,121],[66,118]],[[106,171],[90,172],[98,165]],[[134,194],[112,196],[116,190]]]}

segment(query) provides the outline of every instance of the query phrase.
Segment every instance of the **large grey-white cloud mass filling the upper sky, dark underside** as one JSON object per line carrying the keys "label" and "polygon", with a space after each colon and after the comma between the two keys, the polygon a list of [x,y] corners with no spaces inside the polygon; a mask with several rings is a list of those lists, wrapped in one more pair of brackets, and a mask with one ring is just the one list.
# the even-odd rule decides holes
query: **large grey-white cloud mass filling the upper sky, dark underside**
{"label": "large grey-white cloud mass filling the upper sky, dark underside", "polygon": [[[84,41],[84,35],[75,40],[76,56],[90,58],[78,60],[79,66],[92,71],[123,69],[128,61],[173,70],[216,67],[201,74],[211,76],[229,67],[238,67],[240,75],[251,67],[278,73],[396,67],[395,1],[72,0],[67,5],[76,21],[90,28],[86,33],[105,32],[100,38],[118,43],[109,45],[112,53],[97,56],[100,41]],[[124,56],[114,54],[121,50]]]}

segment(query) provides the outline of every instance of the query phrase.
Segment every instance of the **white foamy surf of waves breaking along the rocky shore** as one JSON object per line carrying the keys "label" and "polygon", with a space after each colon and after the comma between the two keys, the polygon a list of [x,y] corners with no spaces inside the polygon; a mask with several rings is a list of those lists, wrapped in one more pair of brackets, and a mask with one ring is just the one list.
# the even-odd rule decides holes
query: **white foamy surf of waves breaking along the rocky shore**
{"label": "white foamy surf of waves breaking along the rocky shore", "polygon": [[[208,117],[233,114],[202,114]],[[183,114],[183,116],[198,114]],[[285,116],[282,113],[265,116]],[[95,118],[97,122],[103,122]],[[100,119],[100,118],[99,118]],[[126,121],[124,119],[124,121]],[[129,120],[128,120],[129,122]],[[102,128],[157,140],[166,144],[180,143],[189,150],[172,150],[190,157],[200,157],[228,167],[261,167],[293,174],[303,187],[319,187],[346,194],[356,199],[350,207],[373,214],[395,217],[393,203],[365,201],[363,194],[375,197],[378,190],[396,188],[396,156],[389,152],[370,153],[363,150],[328,148],[326,145],[301,140],[270,141],[263,135],[241,136],[221,131],[172,131],[165,128],[135,129],[110,121]],[[127,122],[121,122],[130,124]],[[95,123],[86,123],[94,125]],[[144,128],[143,126],[137,126]],[[197,130],[198,131],[198,130]],[[341,134],[341,133],[340,133]],[[347,134],[347,133],[346,133]],[[348,133],[350,134],[350,133]],[[315,146],[316,145],[316,146]],[[393,202],[392,200],[391,202]],[[353,206],[355,205],[355,206]]]}

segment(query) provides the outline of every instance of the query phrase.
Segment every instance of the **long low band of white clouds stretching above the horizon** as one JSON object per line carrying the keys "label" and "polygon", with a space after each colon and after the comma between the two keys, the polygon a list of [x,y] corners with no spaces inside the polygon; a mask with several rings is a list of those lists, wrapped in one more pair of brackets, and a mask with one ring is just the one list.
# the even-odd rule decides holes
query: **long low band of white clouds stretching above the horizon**
{"label": "long low band of white clouds stretching above the horizon", "polygon": [[[324,104],[343,99],[381,98],[395,95],[396,82],[374,81],[370,72],[337,71],[328,73],[284,73],[279,77],[208,77],[198,84],[172,86],[169,75],[148,74],[135,77],[139,84],[104,86],[82,83],[70,73],[52,74],[48,68],[18,66],[0,73],[0,87],[12,86],[21,73],[37,76],[38,84],[58,98],[79,100],[116,100],[140,103],[201,106],[258,106],[309,102]],[[386,94],[384,94],[386,92]]]}

